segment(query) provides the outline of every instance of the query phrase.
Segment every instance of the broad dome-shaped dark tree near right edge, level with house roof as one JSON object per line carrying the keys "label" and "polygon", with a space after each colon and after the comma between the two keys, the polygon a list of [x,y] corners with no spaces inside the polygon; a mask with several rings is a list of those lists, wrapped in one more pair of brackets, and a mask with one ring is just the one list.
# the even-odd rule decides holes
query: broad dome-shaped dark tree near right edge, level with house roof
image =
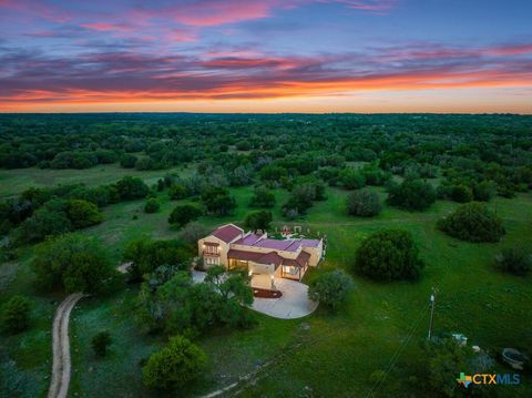
{"label": "broad dome-shaped dark tree near right edge, level with house roof", "polygon": [[468,242],[499,242],[505,233],[501,218],[478,202],[459,206],[441,218],[438,227],[450,236]]}

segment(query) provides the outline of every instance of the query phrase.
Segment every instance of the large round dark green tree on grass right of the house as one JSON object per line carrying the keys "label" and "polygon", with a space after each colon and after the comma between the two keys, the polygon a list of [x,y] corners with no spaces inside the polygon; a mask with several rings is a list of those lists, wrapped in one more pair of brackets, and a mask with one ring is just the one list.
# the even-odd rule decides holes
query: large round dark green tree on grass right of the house
{"label": "large round dark green tree on grass right of the house", "polygon": [[412,235],[400,229],[372,233],[355,255],[355,269],[377,280],[418,279],[423,266]]}

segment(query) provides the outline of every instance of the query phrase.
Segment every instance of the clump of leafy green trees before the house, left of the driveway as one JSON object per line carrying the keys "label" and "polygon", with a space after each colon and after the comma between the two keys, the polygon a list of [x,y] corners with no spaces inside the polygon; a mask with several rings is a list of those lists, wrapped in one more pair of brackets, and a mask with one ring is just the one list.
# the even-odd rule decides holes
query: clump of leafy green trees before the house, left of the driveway
{"label": "clump of leafy green trees before the house, left of the driveway", "polygon": [[246,273],[207,269],[205,282],[193,284],[188,272],[162,267],[147,274],[139,296],[137,322],[144,331],[203,333],[213,326],[249,327],[253,290]]}

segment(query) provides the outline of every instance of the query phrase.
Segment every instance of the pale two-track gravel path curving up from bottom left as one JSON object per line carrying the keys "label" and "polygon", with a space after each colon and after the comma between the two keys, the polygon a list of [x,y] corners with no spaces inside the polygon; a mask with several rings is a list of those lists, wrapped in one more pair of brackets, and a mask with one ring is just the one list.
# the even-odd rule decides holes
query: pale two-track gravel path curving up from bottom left
{"label": "pale two-track gravel path curving up from bottom left", "polygon": [[70,313],[75,303],[83,297],[81,293],[68,296],[58,307],[53,319],[53,368],[48,398],[66,398],[70,385]]}

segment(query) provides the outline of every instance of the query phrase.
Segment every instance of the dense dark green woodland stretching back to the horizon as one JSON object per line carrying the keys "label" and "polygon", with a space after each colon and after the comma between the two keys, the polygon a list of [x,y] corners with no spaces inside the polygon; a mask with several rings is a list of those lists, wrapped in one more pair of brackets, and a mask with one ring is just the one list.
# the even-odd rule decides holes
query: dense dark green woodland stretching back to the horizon
{"label": "dense dark green woodland stretching back to the horizon", "polygon": [[[461,203],[512,197],[532,186],[531,149],[532,118],[510,114],[0,116],[0,166],[194,164],[191,178],[167,178],[160,188],[165,185],[173,198],[183,198],[229,186],[259,185],[258,196],[283,187],[293,192],[283,206],[288,218],[323,200],[324,185],[387,186],[391,204],[417,210],[432,196]],[[407,182],[440,180],[432,193],[419,182],[393,186],[392,175]],[[227,193],[218,193],[227,196],[231,211]],[[426,203],[416,203],[422,196]]]}

